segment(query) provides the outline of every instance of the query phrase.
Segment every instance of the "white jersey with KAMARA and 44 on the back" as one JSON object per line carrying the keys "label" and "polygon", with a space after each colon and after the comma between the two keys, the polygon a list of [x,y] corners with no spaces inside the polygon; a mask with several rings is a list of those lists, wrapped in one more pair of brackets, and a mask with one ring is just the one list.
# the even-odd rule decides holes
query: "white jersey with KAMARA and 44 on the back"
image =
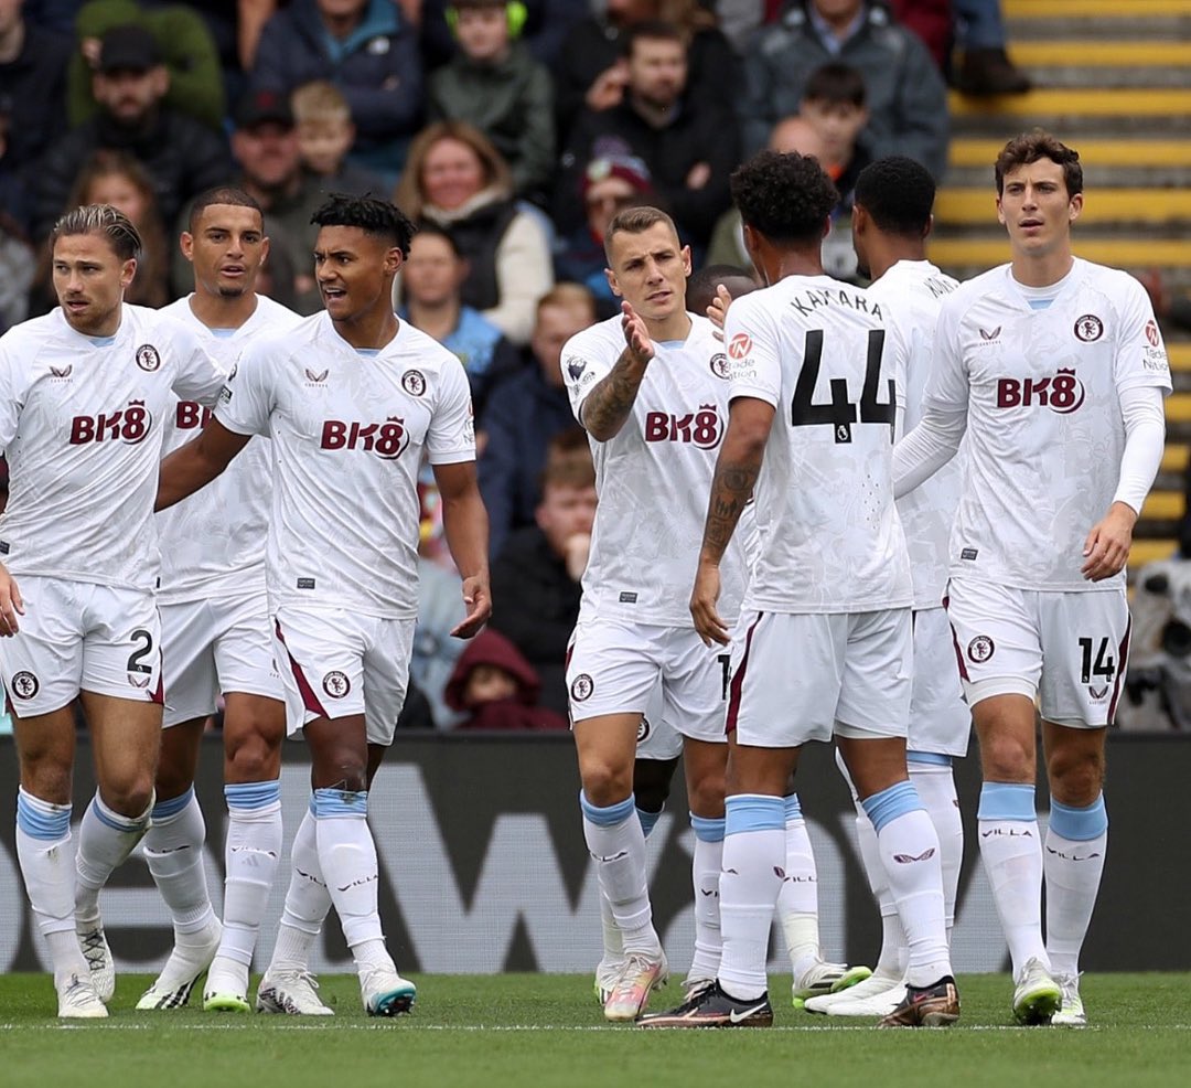
{"label": "white jersey with KAMARA and 44 on the back", "polygon": [[906,347],[883,304],[829,276],[736,299],[730,398],[777,409],[756,484],[761,554],[746,608],[861,613],[912,602],[893,504]]}

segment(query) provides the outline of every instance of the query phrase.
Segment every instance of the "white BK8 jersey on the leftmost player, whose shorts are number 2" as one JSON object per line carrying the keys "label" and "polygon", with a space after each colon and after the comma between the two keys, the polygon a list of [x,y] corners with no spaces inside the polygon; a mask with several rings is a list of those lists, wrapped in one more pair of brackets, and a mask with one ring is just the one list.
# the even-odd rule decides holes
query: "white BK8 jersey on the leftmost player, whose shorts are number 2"
{"label": "white BK8 jersey on the leftmost player, whose shorts are number 2", "polygon": [[214,404],[225,371],[185,325],[125,305],[114,337],[60,309],[0,338],[0,452],[8,508],[0,560],[39,574],[152,590],[152,505],[176,398]]}

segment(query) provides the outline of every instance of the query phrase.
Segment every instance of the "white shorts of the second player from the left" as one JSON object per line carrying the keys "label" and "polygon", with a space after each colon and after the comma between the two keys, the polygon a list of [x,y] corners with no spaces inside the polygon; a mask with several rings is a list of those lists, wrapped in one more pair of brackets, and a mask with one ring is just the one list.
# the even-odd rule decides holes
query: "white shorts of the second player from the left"
{"label": "white shorts of the second player from the left", "polygon": [[219,694],[283,700],[263,586],[242,597],[158,605],[166,728],[216,711]]}

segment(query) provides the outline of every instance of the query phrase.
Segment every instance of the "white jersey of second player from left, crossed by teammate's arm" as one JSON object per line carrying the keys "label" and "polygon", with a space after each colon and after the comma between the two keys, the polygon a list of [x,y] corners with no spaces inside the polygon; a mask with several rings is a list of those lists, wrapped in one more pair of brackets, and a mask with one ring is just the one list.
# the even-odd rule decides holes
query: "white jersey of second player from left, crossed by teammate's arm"
{"label": "white jersey of second player from left, crossed by teammate's arm", "polygon": [[[194,316],[191,297],[161,312],[175,317],[206,344],[230,374],[257,336],[283,332],[301,318],[280,303],[256,297],[256,310],[238,329],[208,329]],[[166,417],[162,454],[189,442],[211,418],[197,400],[179,400]],[[264,587],[264,540],[269,528],[269,444],[255,437],[216,480],[157,515],[163,604]]]}

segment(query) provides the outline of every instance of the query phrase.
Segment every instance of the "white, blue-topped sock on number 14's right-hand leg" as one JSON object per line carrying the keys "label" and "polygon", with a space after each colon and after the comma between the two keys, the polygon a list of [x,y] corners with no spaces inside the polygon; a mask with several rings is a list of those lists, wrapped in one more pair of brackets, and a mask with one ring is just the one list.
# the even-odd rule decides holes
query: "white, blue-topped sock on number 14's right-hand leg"
{"label": "white, blue-topped sock on number 14's right-hand leg", "polygon": [[1043,869],[1046,949],[1056,975],[1079,975],[1079,952],[1104,873],[1109,822],[1100,795],[1086,808],[1050,798]]}

